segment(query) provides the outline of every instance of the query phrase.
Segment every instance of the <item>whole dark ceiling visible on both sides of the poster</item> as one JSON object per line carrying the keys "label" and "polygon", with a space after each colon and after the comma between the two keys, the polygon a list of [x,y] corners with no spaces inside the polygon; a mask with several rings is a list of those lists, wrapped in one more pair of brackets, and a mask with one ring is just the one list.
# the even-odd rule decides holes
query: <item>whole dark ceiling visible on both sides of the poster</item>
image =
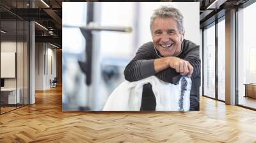
{"label": "whole dark ceiling visible on both sides of the poster", "polygon": [[[52,42],[60,45],[62,37],[62,2],[68,0],[1,0],[1,28],[10,31],[10,35],[15,35],[15,21],[18,20],[35,20],[36,41]],[[72,1],[72,0],[69,0]],[[147,0],[148,1],[148,0]],[[225,10],[234,8],[246,3],[248,0],[173,0],[173,2],[200,2],[200,27],[210,24],[217,17],[225,15]],[[214,2],[216,1],[216,2]],[[32,8],[33,7],[33,8]],[[222,14],[221,14],[222,12]],[[22,33],[24,27],[18,24],[17,33]],[[44,27],[42,27],[44,26]],[[28,29],[25,28],[27,31]],[[19,37],[19,36],[18,36]]]}

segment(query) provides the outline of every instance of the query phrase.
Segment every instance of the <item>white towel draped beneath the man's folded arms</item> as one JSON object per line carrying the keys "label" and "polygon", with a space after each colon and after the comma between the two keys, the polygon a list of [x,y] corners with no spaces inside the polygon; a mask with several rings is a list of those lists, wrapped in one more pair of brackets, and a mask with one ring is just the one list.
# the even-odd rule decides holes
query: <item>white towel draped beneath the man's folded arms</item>
{"label": "white towel draped beneath the man's folded arms", "polygon": [[[189,96],[191,88],[191,79],[186,77],[188,90],[183,96],[183,109],[189,110]],[[180,110],[180,84],[174,85],[157,79],[155,76],[137,82],[128,82],[125,80],[113,93],[110,94],[104,111],[140,111],[143,85],[150,83],[152,91],[156,96],[157,111],[179,111]]]}

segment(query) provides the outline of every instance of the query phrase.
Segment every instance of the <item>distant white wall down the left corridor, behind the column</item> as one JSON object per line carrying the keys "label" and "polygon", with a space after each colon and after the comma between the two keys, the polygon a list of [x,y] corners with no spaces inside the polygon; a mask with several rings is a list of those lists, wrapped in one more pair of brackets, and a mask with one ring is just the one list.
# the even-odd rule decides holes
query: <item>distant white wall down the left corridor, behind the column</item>
{"label": "distant white wall down the left corridor, behind the column", "polygon": [[50,79],[56,77],[56,49],[48,43],[36,43],[35,55],[35,90],[49,89]]}

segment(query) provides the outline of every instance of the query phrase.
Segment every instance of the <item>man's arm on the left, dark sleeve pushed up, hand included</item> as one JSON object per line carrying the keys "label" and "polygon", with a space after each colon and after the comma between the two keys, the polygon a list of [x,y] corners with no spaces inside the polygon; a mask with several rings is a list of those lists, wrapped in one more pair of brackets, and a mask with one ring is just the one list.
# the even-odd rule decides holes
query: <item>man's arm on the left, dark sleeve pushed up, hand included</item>
{"label": "man's arm on the left, dark sleeve pushed up, hand included", "polygon": [[[156,59],[156,51],[154,50],[153,43],[148,42],[138,49],[136,56],[125,67],[124,76],[125,80],[134,82],[157,73],[159,79],[173,84],[172,77],[176,77],[177,75],[180,75],[180,73],[184,75],[189,73],[189,75],[191,75],[193,68],[187,64],[189,64],[188,61],[184,61],[178,57],[163,57]],[[190,68],[186,68],[187,66]],[[179,68],[181,67],[185,68],[180,70]]]}

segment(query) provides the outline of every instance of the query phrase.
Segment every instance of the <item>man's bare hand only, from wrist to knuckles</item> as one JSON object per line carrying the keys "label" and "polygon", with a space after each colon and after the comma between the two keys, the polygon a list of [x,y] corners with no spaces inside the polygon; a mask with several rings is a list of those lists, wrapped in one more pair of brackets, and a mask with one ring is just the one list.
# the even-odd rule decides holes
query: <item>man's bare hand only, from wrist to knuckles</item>
{"label": "man's bare hand only, from wrist to knuckles", "polygon": [[188,75],[191,77],[193,73],[193,66],[188,61],[180,59],[179,57],[168,57],[168,63],[170,68],[176,70],[180,75]]}

